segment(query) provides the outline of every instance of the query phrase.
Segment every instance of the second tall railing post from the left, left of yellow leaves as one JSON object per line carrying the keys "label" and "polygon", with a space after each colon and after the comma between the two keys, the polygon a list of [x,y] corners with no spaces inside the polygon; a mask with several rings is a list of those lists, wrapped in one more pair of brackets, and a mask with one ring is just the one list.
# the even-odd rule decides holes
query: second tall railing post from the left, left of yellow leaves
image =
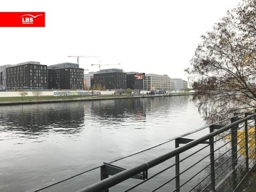
{"label": "second tall railing post from the left, left of yellow leaves", "polygon": [[[210,132],[213,132],[212,125],[210,126]],[[211,137],[209,141],[210,141],[210,161],[211,161],[211,192],[215,192],[214,137]]]}

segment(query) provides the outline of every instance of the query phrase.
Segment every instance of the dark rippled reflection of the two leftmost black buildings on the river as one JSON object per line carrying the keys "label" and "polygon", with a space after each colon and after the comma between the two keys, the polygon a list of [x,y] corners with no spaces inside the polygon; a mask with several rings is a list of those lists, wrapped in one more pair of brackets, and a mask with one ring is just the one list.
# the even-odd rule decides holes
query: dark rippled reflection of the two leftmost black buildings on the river
{"label": "dark rippled reflection of the two leftmost black buildings on the river", "polygon": [[[34,138],[47,132],[77,134],[83,129],[84,109],[78,103],[3,107],[1,132]],[[6,138],[5,138],[6,139]]]}

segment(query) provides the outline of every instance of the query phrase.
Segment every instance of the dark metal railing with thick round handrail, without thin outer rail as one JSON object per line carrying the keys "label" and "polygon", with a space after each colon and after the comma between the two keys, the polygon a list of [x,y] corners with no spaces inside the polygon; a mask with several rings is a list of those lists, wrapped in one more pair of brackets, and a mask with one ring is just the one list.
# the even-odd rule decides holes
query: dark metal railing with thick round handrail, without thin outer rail
{"label": "dark metal railing with thick round handrail, without thin outer rail", "polygon": [[[200,180],[198,183],[191,186],[190,191],[193,191],[196,189],[196,187],[207,178],[210,177],[209,183],[204,184],[204,188],[201,191],[240,191],[240,187],[245,182],[250,172],[253,170],[255,166],[256,161],[256,150],[255,150],[255,138],[256,138],[256,132],[254,129],[255,123],[256,123],[256,113],[247,112],[244,113],[244,117],[241,117],[239,115],[236,115],[232,118],[230,118],[230,123],[228,125],[220,125],[220,124],[212,124],[210,125],[210,133],[204,135],[203,137],[197,139],[197,140],[189,140],[185,138],[176,138],[175,139],[175,149],[165,153],[161,156],[157,156],[151,160],[148,160],[146,162],[143,162],[137,166],[134,166],[127,170],[122,170],[120,167],[113,166],[111,164],[104,164],[101,166],[101,181],[88,186],[84,189],[79,190],[79,192],[95,192],[95,191],[108,191],[109,188],[129,179],[129,178],[136,178],[136,176],[139,179],[142,179],[141,182],[131,186],[130,188],[124,189],[123,191],[130,191],[142,183],[147,182],[148,180],[151,180],[152,178],[156,177],[160,173],[175,167],[175,174],[172,178],[169,180],[163,182],[162,184],[159,184],[159,186],[155,187],[151,192],[156,191],[160,188],[162,188],[167,183],[175,180],[175,188],[172,190],[173,192],[180,192],[180,188],[182,188],[185,184],[187,184],[190,180],[192,180],[196,175],[206,170],[207,167],[210,167],[209,173],[204,177],[202,180]],[[250,131],[250,134],[248,135],[248,131]],[[248,140],[249,136],[252,137],[252,139]],[[224,142],[225,138],[230,138],[228,142]],[[224,140],[223,140],[224,139]],[[222,144],[220,147],[215,149],[215,143],[217,141],[222,140],[224,144]],[[226,139],[227,140],[227,139]],[[241,144],[243,144],[241,146]],[[180,144],[186,144],[183,146],[180,146]],[[180,159],[180,155],[189,149],[195,148],[199,144],[205,144],[203,148],[196,148],[196,152],[193,152],[192,154],[186,156],[183,159]],[[231,145],[231,148],[227,151],[224,151],[221,153],[220,156],[216,156],[216,151],[220,151],[220,149],[223,149],[224,147],[227,147],[228,144]],[[198,161],[191,163],[191,165],[180,172],[180,163],[184,161],[185,159],[188,159],[189,157],[199,153],[204,148],[210,147],[210,153],[204,156],[203,158],[200,158]],[[244,149],[244,152],[243,152]],[[228,156],[228,154],[230,156]],[[222,161],[218,166],[216,165],[217,160],[220,160],[221,157],[227,156],[227,159]],[[239,155],[239,156],[238,156]],[[180,183],[180,177],[184,175],[188,170],[190,170],[192,167],[206,159],[207,157],[210,157],[210,162],[206,166],[204,166],[200,171],[194,173],[192,177],[187,179],[185,182]],[[149,171],[151,168],[155,167],[156,165],[159,165],[171,158],[175,158],[175,163],[171,164],[170,166],[166,167],[165,169],[151,175],[149,175]],[[217,173],[217,170],[221,167],[225,166],[223,171],[220,173]],[[120,171],[117,171],[117,168],[120,169]],[[116,170],[116,172],[114,171]],[[113,175],[111,177],[108,177],[108,175]],[[171,190],[170,190],[171,191]],[[198,189],[197,189],[198,191]]]}

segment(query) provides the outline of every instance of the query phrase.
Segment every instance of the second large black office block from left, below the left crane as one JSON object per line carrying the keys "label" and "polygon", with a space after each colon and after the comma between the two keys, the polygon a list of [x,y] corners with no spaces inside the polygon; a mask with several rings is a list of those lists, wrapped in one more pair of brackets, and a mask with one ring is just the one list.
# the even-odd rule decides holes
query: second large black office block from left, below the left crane
{"label": "second large black office block from left, below the left crane", "polygon": [[48,67],[49,89],[83,89],[84,70],[76,63],[59,63]]}

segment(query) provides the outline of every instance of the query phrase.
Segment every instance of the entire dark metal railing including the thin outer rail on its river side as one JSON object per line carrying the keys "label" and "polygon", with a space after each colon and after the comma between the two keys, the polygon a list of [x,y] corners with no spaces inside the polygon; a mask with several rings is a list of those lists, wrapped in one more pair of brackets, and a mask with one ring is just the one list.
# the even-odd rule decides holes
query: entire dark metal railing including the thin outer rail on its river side
{"label": "entire dark metal railing including the thin outer rail on its river side", "polygon": [[[223,125],[224,123],[226,123],[227,125]],[[34,189],[29,191],[41,191],[76,176],[91,172],[92,170],[100,169],[100,181],[86,188],[83,188],[78,192],[108,192],[109,188],[111,189],[111,187],[119,183],[122,184],[123,181],[130,178],[142,180],[139,183],[130,186],[129,188],[125,188],[122,186],[122,188],[125,188],[122,191],[126,192],[131,191],[132,189],[137,188],[144,183],[148,183],[147,181],[152,180],[156,176],[172,168],[175,169],[172,172],[173,177],[168,178],[167,181],[163,181],[162,184],[159,183],[159,186],[154,186],[154,188],[152,190],[150,189],[149,191],[156,191],[171,182],[173,182],[171,186],[173,189],[168,189],[168,191],[173,192],[180,192],[181,190],[184,191],[183,188],[186,185],[189,185],[189,189],[187,187],[188,190],[185,190],[189,192],[195,190],[200,192],[240,191],[242,184],[247,181],[248,177],[250,176],[250,172],[252,172],[253,168],[255,167],[255,125],[256,110],[251,110],[243,114],[235,114],[231,118],[221,120],[214,124],[206,125],[192,132],[188,132],[178,137],[174,137],[164,142],[161,142],[152,147],[140,150],[129,156],[119,157],[111,161],[110,163],[100,164],[99,166],[92,167],[84,172],[74,174],[73,176],[66,179],[62,179],[57,182],[55,181],[54,183],[46,183],[40,189]],[[185,138],[188,135],[197,133],[208,128],[210,130],[210,133],[205,134],[199,139],[192,140]],[[117,161],[138,155],[150,149],[162,146],[171,141],[175,141],[174,150],[161,156],[157,156],[146,162],[143,162],[130,169],[124,169],[122,167],[113,165],[113,163]],[[180,146],[181,144],[186,145]],[[201,144],[203,145],[203,147],[200,147]],[[194,151],[191,154],[187,155],[190,149]],[[200,152],[202,152],[203,150],[209,150],[210,153],[207,153],[206,155],[203,154],[204,156],[202,158],[196,159],[195,155],[200,154]],[[181,156],[183,158],[181,158]],[[182,170],[180,168],[180,164],[185,162],[186,160],[190,160],[191,158],[193,159],[189,161],[188,167]],[[154,174],[150,171],[150,169],[155,167],[156,165],[163,165],[163,162],[166,162],[167,160],[172,160],[173,163],[168,164],[166,168],[160,171],[158,170]],[[202,165],[202,162],[206,164]],[[188,172],[191,171],[196,165],[199,165],[199,169],[197,171],[194,171],[193,175],[191,176],[191,173]],[[192,182],[192,180],[200,174],[203,175],[200,180]],[[109,175],[112,176],[109,177]],[[188,175],[190,175],[189,178],[187,177]],[[200,188],[198,186],[200,186]]]}

